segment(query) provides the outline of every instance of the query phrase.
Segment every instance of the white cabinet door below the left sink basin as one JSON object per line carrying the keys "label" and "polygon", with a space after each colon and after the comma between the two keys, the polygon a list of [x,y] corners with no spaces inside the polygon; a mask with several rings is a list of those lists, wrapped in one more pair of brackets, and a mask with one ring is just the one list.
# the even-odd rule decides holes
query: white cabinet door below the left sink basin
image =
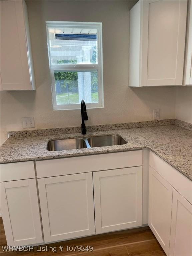
{"label": "white cabinet door below the left sink basin", "polygon": [[38,179],[45,242],[95,234],[92,173]]}

